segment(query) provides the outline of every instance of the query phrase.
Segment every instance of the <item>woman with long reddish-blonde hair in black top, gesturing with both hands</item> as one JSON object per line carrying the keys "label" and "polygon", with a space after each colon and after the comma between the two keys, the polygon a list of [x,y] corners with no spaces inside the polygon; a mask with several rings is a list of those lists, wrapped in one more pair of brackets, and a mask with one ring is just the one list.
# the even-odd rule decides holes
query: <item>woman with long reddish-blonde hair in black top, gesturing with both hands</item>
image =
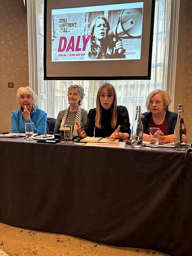
{"label": "woman with long reddish-blonde hair in black top, gesturing with both hands", "polygon": [[129,114],[124,106],[117,106],[115,88],[110,83],[102,84],[97,93],[96,108],[90,109],[85,125],[85,134],[80,125],[79,137],[103,137],[109,139],[128,139],[131,134]]}

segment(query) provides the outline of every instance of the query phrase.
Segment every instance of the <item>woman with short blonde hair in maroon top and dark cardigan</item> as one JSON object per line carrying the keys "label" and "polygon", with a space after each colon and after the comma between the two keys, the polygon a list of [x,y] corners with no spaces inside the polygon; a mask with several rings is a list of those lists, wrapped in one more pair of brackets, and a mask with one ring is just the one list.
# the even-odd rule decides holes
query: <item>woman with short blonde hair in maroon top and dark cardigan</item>
{"label": "woman with short blonde hair in maroon top and dark cardigan", "polygon": [[174,141],[174,129],[178,114],[169,111],[171,103],[168,92],[156,89],[149,93],[146,99],[147,112],[143,113],[143,140],[149,141],[149,128],[160,128],[159,143]]}

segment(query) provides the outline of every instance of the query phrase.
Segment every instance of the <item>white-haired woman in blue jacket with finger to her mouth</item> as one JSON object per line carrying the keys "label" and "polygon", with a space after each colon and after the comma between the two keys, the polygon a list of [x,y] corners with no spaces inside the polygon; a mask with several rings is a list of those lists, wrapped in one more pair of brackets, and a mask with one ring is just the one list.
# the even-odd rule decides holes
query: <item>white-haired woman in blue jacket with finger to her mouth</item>
{"label": "white-haired woman in blue jacket with finger to her mouth", "polygon": [[47,114],[37,107],[38,96],[29,87],[20,87],[16,94],[20,108],[11,113],[11,132],[25,133],[25,123],[34,123],[34,133],[46,133]]}

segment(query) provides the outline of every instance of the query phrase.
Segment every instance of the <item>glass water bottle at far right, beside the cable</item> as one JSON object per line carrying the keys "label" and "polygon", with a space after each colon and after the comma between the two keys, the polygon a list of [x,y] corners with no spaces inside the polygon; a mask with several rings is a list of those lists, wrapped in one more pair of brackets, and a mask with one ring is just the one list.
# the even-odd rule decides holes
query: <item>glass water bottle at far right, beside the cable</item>
{"label": "glass water bottle at far right, beside the cable", "polygon": [[183,105],[178,104],[178,119],[175,126],[175,149],[187,149],[187,129],[183,119]]}

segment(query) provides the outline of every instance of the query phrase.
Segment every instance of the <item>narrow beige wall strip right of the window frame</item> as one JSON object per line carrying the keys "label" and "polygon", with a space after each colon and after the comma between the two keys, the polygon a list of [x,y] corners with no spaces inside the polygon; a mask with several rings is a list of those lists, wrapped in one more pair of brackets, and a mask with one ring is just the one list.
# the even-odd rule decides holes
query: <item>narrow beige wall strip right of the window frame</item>
{"label": "narrow beige wall strip right of the window frame", "polygon": [[183,104],[187,141],[192,143],[192,1],[182,0],[179,16],[179,41],[175,106]]}

